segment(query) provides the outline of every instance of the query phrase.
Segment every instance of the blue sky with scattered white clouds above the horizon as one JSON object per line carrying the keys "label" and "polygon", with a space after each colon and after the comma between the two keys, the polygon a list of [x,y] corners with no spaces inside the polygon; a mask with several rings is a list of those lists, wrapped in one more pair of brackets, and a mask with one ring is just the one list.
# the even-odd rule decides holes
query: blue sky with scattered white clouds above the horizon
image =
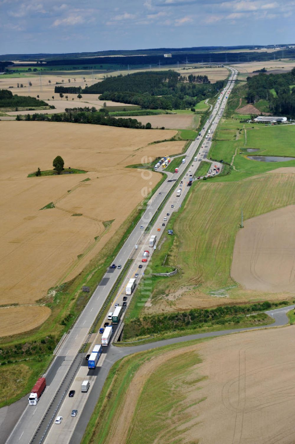
{"label": "blue sky with scattered white clouds above the horizon", "polygon": [[0,54],[295,43],[295,0],[0,0]]}

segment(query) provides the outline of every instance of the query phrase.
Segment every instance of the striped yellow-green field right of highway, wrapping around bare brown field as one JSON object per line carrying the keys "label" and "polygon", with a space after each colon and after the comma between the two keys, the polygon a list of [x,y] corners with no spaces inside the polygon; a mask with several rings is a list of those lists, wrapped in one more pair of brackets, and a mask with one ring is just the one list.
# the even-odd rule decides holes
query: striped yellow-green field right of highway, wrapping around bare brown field
{"label": "striped yellow-green field right of highway, wrapping around bare brown field", "polygon": [[240,182],[197,182],[185,210],[175,217],[172,226],[167,226],[174,230],[173,244],[167,237],[167,246],[163,242],[161,250],[153,254],[153,270],[164,259],[165,265],[179,270],[169,279],[157,278],[153,282],[153,299],[157,301],[188,285],[208,299],[208,292],[224,288],[234,299],[246,294],[230,277],[241,208],[246,220],[290,204],[295,204],[291,174],[265,174]]}

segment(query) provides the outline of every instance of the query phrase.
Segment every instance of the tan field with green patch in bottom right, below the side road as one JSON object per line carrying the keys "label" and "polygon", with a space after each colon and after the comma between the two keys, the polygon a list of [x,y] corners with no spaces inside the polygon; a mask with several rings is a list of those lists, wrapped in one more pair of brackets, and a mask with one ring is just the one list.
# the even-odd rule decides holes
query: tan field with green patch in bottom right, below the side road
{"label": "tan field with green patch in bottom right, below the side road", "polygon": [[294,333],[236,333],[150,357],[104,442],[295,442]]}

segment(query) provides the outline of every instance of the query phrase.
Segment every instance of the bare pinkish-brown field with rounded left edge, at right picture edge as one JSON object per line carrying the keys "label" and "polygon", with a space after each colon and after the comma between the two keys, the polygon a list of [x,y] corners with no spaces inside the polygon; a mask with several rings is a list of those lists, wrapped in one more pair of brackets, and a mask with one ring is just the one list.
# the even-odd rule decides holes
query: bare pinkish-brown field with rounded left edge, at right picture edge
{"label": "bare pinkish-brown field with rounded left edge, at right picture edge", "polygon": [[295,206],[244,222],[236,236],[232,278],[246,289],[295,293]]}

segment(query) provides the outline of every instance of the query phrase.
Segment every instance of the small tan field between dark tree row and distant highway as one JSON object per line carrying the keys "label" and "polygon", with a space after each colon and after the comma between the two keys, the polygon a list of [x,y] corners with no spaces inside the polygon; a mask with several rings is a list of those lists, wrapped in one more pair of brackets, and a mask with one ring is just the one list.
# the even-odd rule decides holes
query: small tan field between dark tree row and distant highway
{"label": "small tan field between dark tree row and distant highway", "polygon": [[[150,123],[152,128],[169,128],[169,129],[185,129],[191,128],[193,125],[193,114],[158,114],[158,115],[135,115],[125,116],[124,119],[137,119],[143,125]],[[120,119],[118,117],[117,119]],[[122,117],[121,117],[122,119]],[[197,126],[197,125],[196,125]]]}

